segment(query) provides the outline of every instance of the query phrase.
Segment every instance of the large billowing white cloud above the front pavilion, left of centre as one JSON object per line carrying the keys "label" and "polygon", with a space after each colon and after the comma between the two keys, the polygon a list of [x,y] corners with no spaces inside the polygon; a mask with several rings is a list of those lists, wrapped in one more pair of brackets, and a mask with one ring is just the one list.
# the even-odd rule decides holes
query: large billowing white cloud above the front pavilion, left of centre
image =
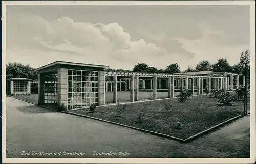
{"label": "large billowing white cloud above the front pavilion, left of centre", "polygon": [[[12,27],[15,27],[9,30],[8,34],[12,33],[16,37],[9,38],[7,51],[13,56],[15,54],[13,45],[19,45],[19,48],[16,47],[19,52],[25,51],[26,48],[34,49],[37,53],[45,51],[45,54],[41,53],[44,64],[53,62],[53,59],[65,59],[63,56],[67,57],[69,54],[77,58],[67,57],[69,61],[71,59],[71,61],[107,64],[112,68],[127,66],[124,69],[131,69],[138,62],[146,63],[165,53],[164,49],[154,43],[147,43],[144,39],[132,41],[130,34],[124,32],[118,23],[105,25],[74,22],[69,17],[47,21],[29,14],[17,17],[8,19]],[[26,42],[23,42],[24,39]],[[52,55],[55,57],[52,58]]]}

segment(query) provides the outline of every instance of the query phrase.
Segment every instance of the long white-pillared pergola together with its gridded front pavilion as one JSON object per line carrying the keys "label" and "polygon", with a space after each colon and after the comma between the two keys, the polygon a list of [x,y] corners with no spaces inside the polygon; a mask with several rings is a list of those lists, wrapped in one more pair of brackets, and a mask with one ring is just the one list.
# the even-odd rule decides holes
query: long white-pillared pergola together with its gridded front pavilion
{"label": "long white-pillared pergola together with its gridded front pavilion", "polygon": [[[51,103],[45,101],[45,81],[47,74],[57,74],[57,93],[54,103],[58,106],[65,105],[68,110],[88,108],[91,104],[105,105],[106,76],[113,77],[113,102],[117,103],[118,83],[127,83],[130,86],[130,102],[139,100],[139,79],[151,80],[153,99],[157,99],[157,79],[167,80],[168,97],[174,97],[175,83],[179,81],[180,90],[190,89],[192,93],[197,90],[198,94],[203,93],[203,81],[207,84],[211,92],[211,79],[214,79],[214,89],[227,88],[227,74],[208,75],[184,75],[184,74],[164,74],[164,73],[142,73],[142,72],[115,72],[104,71],[109,66],[72,63],[56,61],[48,65],[37,68],[38,71],[38,104]],[[118,81],[118,77],[120,81]],[[123,81],[124,79],[124,81]],[[195,85],[196,81],[196,85]],[[145,81],[144,81],[145,82]],[[55,84],[55,83],[54,83]],[[126,85],[127,86],[127,85]]]}

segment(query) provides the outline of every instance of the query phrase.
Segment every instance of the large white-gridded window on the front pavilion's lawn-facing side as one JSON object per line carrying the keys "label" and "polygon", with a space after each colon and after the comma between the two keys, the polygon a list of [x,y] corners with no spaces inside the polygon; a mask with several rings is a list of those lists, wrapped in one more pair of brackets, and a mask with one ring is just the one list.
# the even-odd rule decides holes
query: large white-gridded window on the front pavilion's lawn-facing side
{"label": "large white-gridded window on the front pavilion's lawn-facing side", "polygon": [[99,74],[97,71],[68,70],[68,109],[98,104]]}

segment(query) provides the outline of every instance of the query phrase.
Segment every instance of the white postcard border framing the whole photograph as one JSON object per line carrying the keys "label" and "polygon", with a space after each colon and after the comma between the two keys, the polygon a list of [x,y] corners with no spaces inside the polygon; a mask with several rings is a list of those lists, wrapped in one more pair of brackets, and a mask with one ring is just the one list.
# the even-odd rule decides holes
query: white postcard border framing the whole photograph
{"label": "white postcard border framing the whole photograph", "polygon": [[6,110],[3,110],[3,163],[254,163],[255,162],[255,2],[254,1],[2,1],[3,109],[6,109],[6,5],[250,5],[251,93],[250,158],[6,158]]}

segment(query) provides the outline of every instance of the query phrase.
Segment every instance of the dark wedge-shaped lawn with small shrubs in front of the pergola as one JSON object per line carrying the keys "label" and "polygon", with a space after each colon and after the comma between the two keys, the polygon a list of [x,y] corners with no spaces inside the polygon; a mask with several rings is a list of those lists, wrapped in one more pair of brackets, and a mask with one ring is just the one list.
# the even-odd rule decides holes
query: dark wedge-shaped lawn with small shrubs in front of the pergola
{"label": "dark wedge-shaped lawn with small shrubs in front of the pergola", "polygon": [[[234,94],[234,93],[230,93]],[[171,101],[172,107],[165,111],[164,102]],[[218,99],[208,95],[193,96],[186,102],[177,98],[126,104],[123,112],[118,115],[117,108],[123,105],[97,107],[94,113],[89,110],[73,111],[91,117],[113,121],[137,128],[151,130],[186,139],[191,135],[204,131],[228,119],[243,114],[243,102],[233,102],[232,106],[219,104]],[[249,111],[248,102],[248,111]],[[142,122],[138,122],[142,115]],[[177,128],[181,122],[182,127]]]}

